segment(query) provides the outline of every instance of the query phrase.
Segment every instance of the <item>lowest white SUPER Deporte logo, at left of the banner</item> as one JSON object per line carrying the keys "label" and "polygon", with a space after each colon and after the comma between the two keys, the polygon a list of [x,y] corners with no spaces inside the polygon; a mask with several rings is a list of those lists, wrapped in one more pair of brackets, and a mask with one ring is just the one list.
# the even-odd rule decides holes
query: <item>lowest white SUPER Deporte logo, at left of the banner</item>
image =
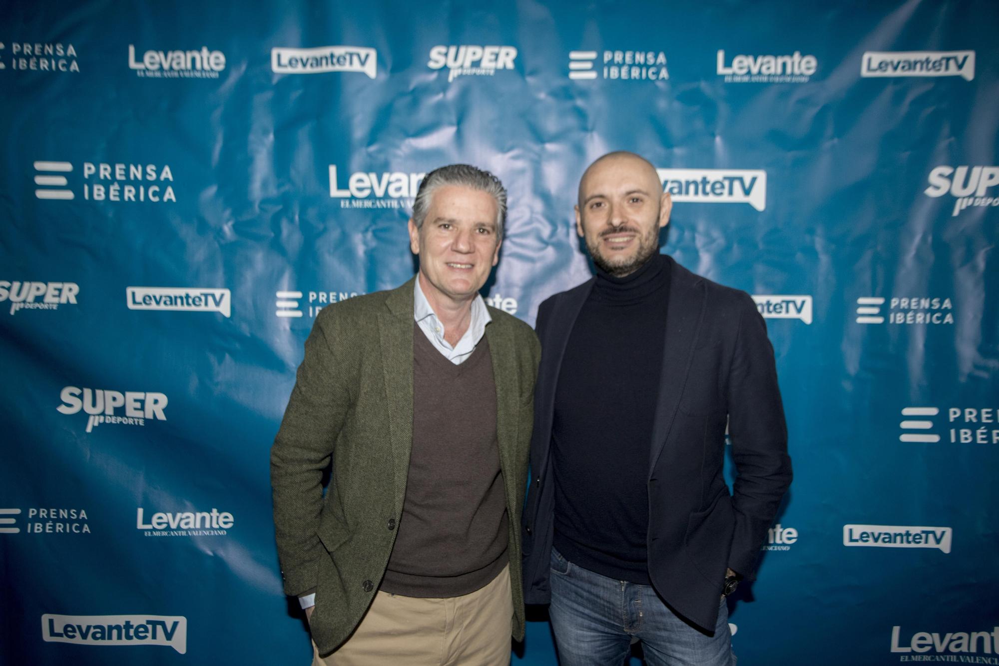
{"label": "lowest white SUPER Deporte logo, at left of the banner", "polygon": [[[66,386],[59,394],[60,414],[87,414],[87,432],[102,424],[146,425],[147,419],[166,421],[167,396],[151,391],[109,391]],[[124,407],[124,410],[119,408]],[[122,414],[124,412],[124,414]]]}

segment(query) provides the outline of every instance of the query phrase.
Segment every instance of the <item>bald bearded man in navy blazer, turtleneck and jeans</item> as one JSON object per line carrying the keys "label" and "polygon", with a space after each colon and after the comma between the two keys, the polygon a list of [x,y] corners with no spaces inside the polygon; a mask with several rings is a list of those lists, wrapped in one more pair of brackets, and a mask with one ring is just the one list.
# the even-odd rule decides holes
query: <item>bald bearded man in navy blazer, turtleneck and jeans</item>
{"label": "bald bearded man in navy blazer, turtleneck and jeans", "polygon": [[523,581],[562,666],[621,664],[633,639],[650,666],[734,664],[725,598],[791,481],[763,319],[659,254],[671,207],[638,155],[589,165],[575,223],[596,276],[537,311]]}

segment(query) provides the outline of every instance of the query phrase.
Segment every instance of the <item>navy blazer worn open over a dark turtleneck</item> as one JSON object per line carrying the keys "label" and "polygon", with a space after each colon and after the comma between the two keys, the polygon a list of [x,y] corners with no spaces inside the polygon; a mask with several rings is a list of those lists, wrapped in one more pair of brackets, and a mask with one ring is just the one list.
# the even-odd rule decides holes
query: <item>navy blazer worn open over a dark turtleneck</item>
{"label": "navy blazer worn open over a dark turtleneck", "polygon": [[[648,461],[648,574],[673,610],[712,631],[730,567],[752,579],[760,546],[791,482],[787,428],[766,324],[748,294],[671,258],[669,307]],[[523,585],[546,604],[554,517],[549,462],[555,384],[594,279],[537,311],[531,482],[523,511]],[[594,408],[598,408],[595,405]],[[738,476],[722,477],[726,417]]]}

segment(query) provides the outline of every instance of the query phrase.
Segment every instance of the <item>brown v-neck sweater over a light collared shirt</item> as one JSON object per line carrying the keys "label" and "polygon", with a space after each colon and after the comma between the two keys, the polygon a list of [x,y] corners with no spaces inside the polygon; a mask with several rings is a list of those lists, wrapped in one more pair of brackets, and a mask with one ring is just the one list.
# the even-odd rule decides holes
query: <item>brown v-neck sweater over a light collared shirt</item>
{"label": "brown v-neck sweater over a light collared shirt", "polygon": [[455,365],[414,324],[413,451],[381,589],[458,597],[485,587],[507,562],[507,521],[489,341]]}

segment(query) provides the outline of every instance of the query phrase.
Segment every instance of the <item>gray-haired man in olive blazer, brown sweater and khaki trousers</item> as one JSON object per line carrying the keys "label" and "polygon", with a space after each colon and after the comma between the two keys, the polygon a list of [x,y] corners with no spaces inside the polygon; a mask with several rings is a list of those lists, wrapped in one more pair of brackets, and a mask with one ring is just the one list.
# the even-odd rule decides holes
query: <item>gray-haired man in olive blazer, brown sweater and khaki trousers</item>
{"label": "gray-haired man in olive blazer, brown sweater and khaki trousers", "polygon": [[306,341],[271,481],[314,665],[506,664],[523,637],[540,347],[479,294],[505,214],[488,171],[431,172],[409,222],[418,275],[324,308]]}

